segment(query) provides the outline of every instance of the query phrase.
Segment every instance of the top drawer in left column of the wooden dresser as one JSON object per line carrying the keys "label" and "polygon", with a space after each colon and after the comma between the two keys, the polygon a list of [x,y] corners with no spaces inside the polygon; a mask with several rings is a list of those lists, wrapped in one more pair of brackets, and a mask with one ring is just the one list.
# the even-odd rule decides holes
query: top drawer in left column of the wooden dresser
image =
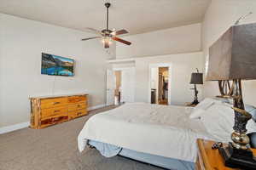
{"label": "top drawer in left column of the wooden dresser", "polygon": [[41,99],[41,109],[67,105],[67,98]]}

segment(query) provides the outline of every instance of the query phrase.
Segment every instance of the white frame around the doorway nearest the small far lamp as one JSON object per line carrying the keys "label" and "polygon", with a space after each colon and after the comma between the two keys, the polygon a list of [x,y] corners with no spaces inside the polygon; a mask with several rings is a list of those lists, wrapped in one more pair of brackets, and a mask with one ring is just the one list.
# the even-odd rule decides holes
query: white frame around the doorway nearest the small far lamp
{"label": "white frame around the doorway nearest the small far lamp", "polygon": [[159,67],[168,67],[168,105],[172,105],[172,98],[171,98],[171,84],[172,84],[172,63],[155,63],[149,64],[149,81],[148,81],[148,103],[151,103],[151,69],[152,68],[159,68]]}

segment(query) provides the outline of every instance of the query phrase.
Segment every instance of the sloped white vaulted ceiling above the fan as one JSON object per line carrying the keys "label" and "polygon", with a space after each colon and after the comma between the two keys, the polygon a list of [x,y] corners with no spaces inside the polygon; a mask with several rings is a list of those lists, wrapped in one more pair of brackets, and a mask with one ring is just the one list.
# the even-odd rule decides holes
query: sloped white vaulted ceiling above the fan
{"label": "sloped white vaulted ceiling above the fan", "polygon": [[[109,0],[110,28],[131,34],[201,22],[211,0]],[[86,31],[106,25],[103,0],[0,0],[0,13]],[[2,24],[2,23],[1,23]]]}

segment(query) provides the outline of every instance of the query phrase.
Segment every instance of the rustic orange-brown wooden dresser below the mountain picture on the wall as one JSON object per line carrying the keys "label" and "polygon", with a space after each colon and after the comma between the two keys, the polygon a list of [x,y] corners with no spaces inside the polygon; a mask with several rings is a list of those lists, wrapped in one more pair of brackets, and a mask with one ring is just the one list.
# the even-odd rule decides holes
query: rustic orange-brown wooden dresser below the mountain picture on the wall
{"label": "rustic orange-brown wooden dresser below the mountain picture on the wall", "polygon": [[33,97],[31,100],[32,128],[44,128],[87,115],[88,94]]}

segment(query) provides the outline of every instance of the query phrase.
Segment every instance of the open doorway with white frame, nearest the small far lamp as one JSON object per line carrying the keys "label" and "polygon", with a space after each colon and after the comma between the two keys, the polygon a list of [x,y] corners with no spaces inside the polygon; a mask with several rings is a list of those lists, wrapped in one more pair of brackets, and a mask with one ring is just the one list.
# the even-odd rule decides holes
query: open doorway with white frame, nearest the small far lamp
{"label": "open doorway with white frame, nearest the small far lamp", "polygon": [[149,65],[149,102],[171,105],[171,64]]}

